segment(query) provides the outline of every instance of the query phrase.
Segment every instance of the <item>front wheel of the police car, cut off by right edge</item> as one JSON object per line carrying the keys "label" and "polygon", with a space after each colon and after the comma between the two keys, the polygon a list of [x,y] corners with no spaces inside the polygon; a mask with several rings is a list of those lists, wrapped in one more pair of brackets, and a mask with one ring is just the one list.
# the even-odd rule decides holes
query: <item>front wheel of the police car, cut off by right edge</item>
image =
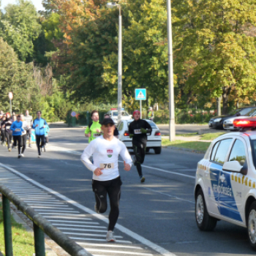
{"label": "front wheel of the police car, cut off by right edge", "polygon": [[256,201],[250,206],[247,218],[249,244],[256,251]]}

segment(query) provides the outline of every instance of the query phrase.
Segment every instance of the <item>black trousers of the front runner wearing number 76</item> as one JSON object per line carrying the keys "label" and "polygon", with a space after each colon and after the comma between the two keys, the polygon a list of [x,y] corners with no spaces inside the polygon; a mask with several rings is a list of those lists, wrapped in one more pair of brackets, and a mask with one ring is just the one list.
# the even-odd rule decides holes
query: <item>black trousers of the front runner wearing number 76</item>
{"label": "black trousers of the front runner wearing number 76", "polygon": [[110,181],[92,180],[92,190],[95,195],[99,214],[105,213],[108,208],[107,194],[110,200],[110,213],[108,216],[108,230],[114,230],[119,216],[119,200],[121,197],[121,178],[118,176]]}

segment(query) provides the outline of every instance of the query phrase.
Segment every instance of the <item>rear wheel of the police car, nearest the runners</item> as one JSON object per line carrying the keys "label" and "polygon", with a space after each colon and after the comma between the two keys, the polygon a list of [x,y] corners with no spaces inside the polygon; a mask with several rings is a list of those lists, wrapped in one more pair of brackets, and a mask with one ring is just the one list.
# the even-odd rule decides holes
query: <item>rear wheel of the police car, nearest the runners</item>
{"label": "rear wheel of the police car, nearest the runners", "polygon": [[197,192],[196,200],[195,200],[195,219],[197,222],[197,227],[203,231],[211,231],[214,230],[214,227],[217,225],[217,219],[211,217],[208,214],[206,208],[206,201],[203,196],[203,190],[200,189]]}

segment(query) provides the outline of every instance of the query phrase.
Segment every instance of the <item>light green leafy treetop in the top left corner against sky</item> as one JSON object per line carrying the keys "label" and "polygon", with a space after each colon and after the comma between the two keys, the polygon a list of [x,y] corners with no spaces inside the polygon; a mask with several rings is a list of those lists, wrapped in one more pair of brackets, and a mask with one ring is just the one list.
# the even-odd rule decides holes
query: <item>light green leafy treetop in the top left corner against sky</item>
{"label": "light green leafy treetop in the top left corner against sky", "polygon": [[1,15],[0,36],[18,53],[20,61],[32,61],[33,40],[40,33],[39,16],[31,1],[8,4]]}

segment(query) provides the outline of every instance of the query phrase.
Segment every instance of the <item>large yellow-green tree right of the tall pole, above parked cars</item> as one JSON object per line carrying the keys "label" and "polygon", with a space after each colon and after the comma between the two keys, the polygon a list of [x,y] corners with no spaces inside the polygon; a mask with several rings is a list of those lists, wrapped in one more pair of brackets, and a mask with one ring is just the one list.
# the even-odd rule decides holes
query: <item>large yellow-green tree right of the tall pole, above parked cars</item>
{"label": "large yellow-green tree right of the tall pole, above parked cars", "polygon": [[249,102],[256,82],[255,0],[174,1],[175,72],[184,91],[212,100],[223,113],[233,99]]}

